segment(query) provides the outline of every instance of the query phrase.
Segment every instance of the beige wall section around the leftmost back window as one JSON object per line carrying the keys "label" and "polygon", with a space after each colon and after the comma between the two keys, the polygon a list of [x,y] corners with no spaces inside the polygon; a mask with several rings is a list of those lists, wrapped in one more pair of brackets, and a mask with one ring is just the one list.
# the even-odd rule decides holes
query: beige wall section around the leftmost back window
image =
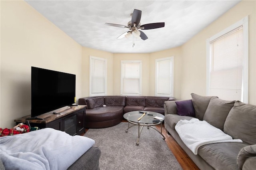
{"label": "beige wall section around the leftmost back window", "polygon": [[90,94],[90,56],[107,59],[107,95],[113,95],[113,53],[82,47],[82,97]]}

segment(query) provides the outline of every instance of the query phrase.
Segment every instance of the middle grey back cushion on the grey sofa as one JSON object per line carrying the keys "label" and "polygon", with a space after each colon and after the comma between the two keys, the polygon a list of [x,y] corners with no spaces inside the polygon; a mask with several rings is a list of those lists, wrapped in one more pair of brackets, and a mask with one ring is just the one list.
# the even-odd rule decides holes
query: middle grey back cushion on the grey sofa
{"label": "middle grey back cushion on the grey sofa", "polygon": [[204,121],[223,131],[224,123],[229,111],[235,101],[225,101],[219,98],[210,99],[209,105],[204,113]]}

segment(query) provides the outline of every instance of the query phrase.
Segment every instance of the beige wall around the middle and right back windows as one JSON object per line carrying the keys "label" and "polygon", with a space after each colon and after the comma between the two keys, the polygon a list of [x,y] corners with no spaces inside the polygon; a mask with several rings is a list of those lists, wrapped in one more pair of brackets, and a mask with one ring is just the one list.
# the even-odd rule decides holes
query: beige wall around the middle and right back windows
{"label": "beige wall around the middle and right back windows", "polygon": [[180,99],[181,78],[181,48],[173,48],[154,53],[115,53],[114,54],[114,80],[113,95],[120,95],[121,60],[142,61],[142,95],[155,95],[155,60],[174,56],[174,97]]}

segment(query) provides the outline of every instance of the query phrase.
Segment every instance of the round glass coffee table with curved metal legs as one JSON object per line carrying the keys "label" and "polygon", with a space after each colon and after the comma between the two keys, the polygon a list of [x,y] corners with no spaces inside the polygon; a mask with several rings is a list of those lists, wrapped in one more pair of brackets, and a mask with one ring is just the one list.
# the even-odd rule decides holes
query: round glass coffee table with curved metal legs
{"label": "round glass coffee table with curved metal legs", "polygon": [[[125,132],[128,132],[128,129],[134,126],[138,126],[138,138],[136,145],[139,145],[140,134],[144,126],[153,128],[162,135],[162,138],[165,140],[164,135],[162,134],[162,122],[164,121],[164,115],[151,111],[132,111],[124,114],[124,119],[128,121],[128,128]],[[130,123],[132,126],[130,126]],[[157,130],[156,125],[161,125],[161,131]]]}

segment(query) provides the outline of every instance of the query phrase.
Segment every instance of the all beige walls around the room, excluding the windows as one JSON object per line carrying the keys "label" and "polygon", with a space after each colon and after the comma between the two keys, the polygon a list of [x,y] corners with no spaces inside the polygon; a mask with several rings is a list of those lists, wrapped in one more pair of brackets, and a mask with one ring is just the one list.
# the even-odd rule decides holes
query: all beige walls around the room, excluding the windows
{"label": "all beige walls around the room, excluding the windows", "polygon": [[206,39],[249,15],[249,103],[256,105],[256,2],[242,1],[181,47],[155,53],[109,53],[81,47],[23,1],[0,1],[0,127],[30,114],[30,69],[76,74],[76,98],[89,96],[89,56],[108,62],[107,95],[120,95],[120,61],[142,60],[142,95],[154,95],[155,59],[174,56],[174,97],[206,95]]}

